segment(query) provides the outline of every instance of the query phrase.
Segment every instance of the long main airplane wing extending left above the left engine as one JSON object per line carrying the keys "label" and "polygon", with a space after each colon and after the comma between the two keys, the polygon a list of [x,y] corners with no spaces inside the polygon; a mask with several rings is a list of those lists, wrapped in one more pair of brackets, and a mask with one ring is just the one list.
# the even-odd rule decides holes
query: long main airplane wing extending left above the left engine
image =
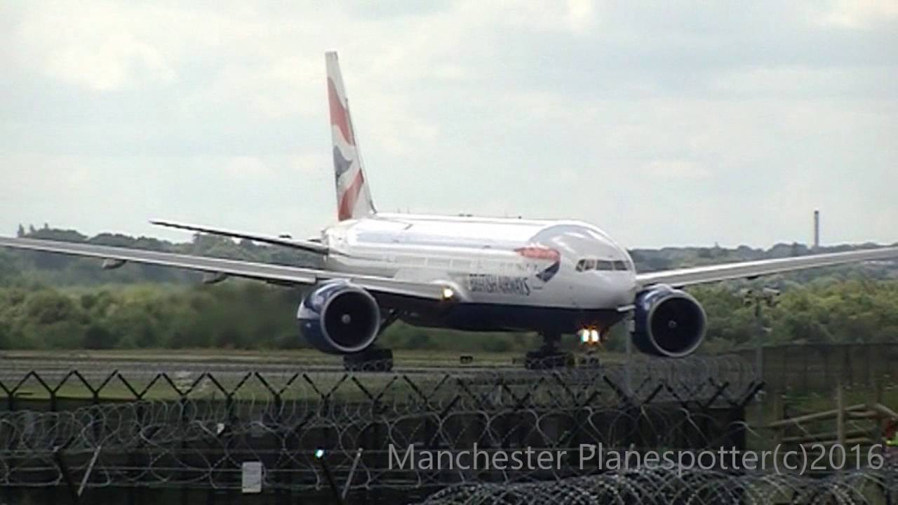
{"label": "long main airplane wing extending left above the left engine", "polygon": [[409,282],[386,277],[352,275],[327,270],[288,267],[257,261],[237,261],[189,254],[158,253],[144,249],[110,247],[108,245],[77,244],[31,238],[10,238],[0,236],[0,246],[28,249],[46,253],[89,256],[110,261],[134,261],[150,265],[160,265],[186,270],[199,270],[220,275],[230,275],[247,279],[258,279],[286,284],[315,284],[326,279],[348,279],[374,293],[385,293],[405,297],[442,300],[444,285]]}

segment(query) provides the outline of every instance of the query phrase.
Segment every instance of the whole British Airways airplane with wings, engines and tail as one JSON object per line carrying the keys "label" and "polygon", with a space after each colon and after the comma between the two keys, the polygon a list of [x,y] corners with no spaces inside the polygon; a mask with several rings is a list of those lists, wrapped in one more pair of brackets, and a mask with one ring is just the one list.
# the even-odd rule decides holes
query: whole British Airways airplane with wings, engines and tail
{"label": "whole British Airways airplane with wings, engines and tail", "polygon": [[318,350],[343,355],[349,370],[392,369],[392,350],[375,345],[390,324],[476,332],[538,332],[543,344],[525,368],[570,364],[561,335],[602,341],[630,318],[630,339],[649,355],[682,358],[703,341],[707,319],[682,288],[898,257],[898,247],[741,261],[639,273],[626,249],[600,228],[577,220],[427,216],[378,212],[349,114],[336,52],[325,54],[338,222],[310,240],[210,226],[151,221],[192,232],[249,239],[317,254],[320,269],[253,261],[0,237],[0,245],[128,261],[227,277],[311,287],[296,318]]}

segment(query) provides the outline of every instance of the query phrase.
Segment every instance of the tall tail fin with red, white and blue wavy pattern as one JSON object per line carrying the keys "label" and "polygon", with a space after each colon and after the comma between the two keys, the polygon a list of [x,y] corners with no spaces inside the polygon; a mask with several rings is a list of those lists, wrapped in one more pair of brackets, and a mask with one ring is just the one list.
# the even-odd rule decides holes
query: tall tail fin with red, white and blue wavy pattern
{"label": "tall tail fin with red, white and blue wavy pattern", "polygon": [[337,53],[325,53],[328,66],[330,136],[333,139],[334,176],[337,183],[337,217],[340,221],[371,216],[374,202],[365,180],[362,158],[358,155],[356,131],[352,128],[343,77]]}

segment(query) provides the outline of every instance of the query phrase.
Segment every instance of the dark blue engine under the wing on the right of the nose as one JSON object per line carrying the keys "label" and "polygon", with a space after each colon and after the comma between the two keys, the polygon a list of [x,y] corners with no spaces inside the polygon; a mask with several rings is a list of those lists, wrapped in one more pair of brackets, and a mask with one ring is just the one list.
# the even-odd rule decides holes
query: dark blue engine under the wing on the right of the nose
{"label": "dark blue engine under the wing on the right of the nose", "polygon": [[689,293],[653,286],[636,297],[633,344],[653,356],[683,358],[698,349],[706,325],[705,309]]}

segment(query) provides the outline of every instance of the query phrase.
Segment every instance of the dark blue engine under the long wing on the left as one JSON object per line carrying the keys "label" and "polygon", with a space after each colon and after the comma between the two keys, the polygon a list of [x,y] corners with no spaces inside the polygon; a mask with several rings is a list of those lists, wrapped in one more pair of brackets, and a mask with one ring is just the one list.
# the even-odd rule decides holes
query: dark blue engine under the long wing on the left
{"label": "dark blue engine under the long wing on the left", "polygon": [[374,343],[381,325],[381,310],[364,288],[334,280],[305,297],[296,319],[300,332],[316,349],[350,354]]}

